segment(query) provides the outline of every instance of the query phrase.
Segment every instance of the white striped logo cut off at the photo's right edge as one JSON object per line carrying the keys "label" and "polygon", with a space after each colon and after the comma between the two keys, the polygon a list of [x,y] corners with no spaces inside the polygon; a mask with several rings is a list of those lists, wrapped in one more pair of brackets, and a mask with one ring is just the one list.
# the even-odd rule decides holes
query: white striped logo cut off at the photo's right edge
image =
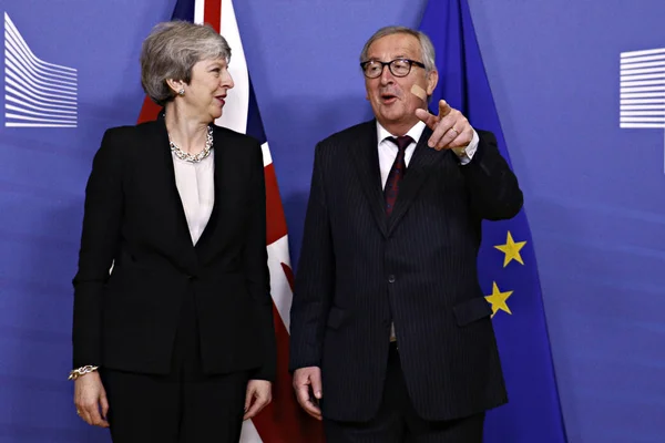
{"label": "white striped logo cut off at the photo's right edge", "polygon": [[620,127],[665,128],[665,48],[622,52],[620,64]]}

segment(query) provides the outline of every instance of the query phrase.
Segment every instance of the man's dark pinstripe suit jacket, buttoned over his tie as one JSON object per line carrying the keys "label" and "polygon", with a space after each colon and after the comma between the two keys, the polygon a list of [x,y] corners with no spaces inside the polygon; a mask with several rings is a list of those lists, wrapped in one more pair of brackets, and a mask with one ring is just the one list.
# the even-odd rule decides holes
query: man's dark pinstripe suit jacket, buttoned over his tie
{"label": "man's dark pinstripe suit jacket, buttoned over his tie", "polygon": [[323,414],[367,421],[381,402],[395,323],[409,396],[428,421],[507,402],[491,309],[478,284],[481,219],[522,192],[491,133],[473,159],[416,147],[389,218],[376,121],[317,145],[291,307],[290,369],[320,367]]}

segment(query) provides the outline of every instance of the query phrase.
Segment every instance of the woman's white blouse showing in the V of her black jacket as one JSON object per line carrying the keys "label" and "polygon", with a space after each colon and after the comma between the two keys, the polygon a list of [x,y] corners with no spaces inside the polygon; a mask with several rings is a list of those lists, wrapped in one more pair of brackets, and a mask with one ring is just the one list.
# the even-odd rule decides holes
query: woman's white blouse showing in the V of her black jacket
{"label": "woman's white blouse showing in the V of her black jacket", "polygon": [[198,163],[173,156],[175,184],[190,226],[192,244],[196,245],[207,225],[215,203],[215,152]]}

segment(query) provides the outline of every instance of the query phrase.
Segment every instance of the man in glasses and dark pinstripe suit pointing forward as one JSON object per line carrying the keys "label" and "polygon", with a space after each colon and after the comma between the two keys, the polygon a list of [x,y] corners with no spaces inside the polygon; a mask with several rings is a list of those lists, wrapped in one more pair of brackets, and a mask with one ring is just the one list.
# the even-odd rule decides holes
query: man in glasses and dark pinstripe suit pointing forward
{"label": "man in glasses and dark pinstripe suit pointing forward", "polygon": [[315,154],[290,315],[296,395],[331,443],[480,443],[484,411],[507,402],[478,284],[481,219],[513,217],[522,192],[491,133],[443,101],[426,111],[438,81],[427,35],[383,28],[360,61],[376,120]]}

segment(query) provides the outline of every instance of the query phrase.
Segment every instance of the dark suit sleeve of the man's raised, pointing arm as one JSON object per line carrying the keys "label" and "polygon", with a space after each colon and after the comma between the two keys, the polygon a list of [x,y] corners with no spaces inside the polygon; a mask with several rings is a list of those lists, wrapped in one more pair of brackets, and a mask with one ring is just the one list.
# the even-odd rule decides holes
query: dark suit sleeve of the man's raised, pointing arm
{"label": "dark suit sleeve of the man's raised, pointing arm", "polygon": [[473,159],[461,166],[471,207],[480,218],[502,220],[514,217],[523,204],[518,178],[501,156],[494,134],[478,131],[480,142]]}

